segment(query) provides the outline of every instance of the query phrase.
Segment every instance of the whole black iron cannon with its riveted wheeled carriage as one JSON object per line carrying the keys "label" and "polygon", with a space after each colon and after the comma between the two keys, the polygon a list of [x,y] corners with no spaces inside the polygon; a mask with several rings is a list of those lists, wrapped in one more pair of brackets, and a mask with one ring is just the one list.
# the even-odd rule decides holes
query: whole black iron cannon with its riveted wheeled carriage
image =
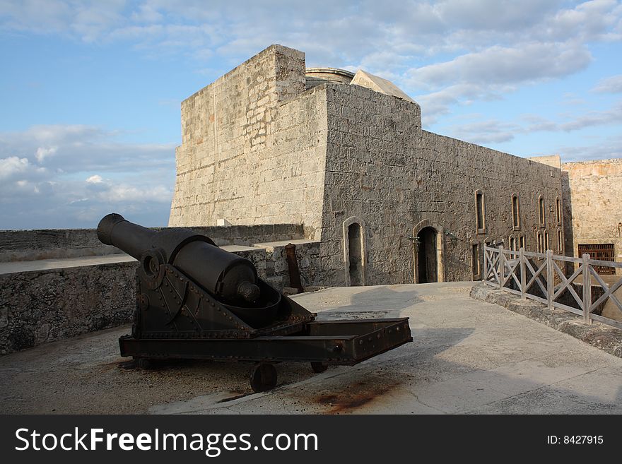
{"label": "whole black iron cannon with its riveted wheeled carriage", "polygon": [[278,362],[354,365],[412,341],[408,318],[316,321],[259,278],[251,261],[185,228],[156,232],[109,214],[98,238],[139,260],[123,357],[250,361],[255,392],[276,386]]}

